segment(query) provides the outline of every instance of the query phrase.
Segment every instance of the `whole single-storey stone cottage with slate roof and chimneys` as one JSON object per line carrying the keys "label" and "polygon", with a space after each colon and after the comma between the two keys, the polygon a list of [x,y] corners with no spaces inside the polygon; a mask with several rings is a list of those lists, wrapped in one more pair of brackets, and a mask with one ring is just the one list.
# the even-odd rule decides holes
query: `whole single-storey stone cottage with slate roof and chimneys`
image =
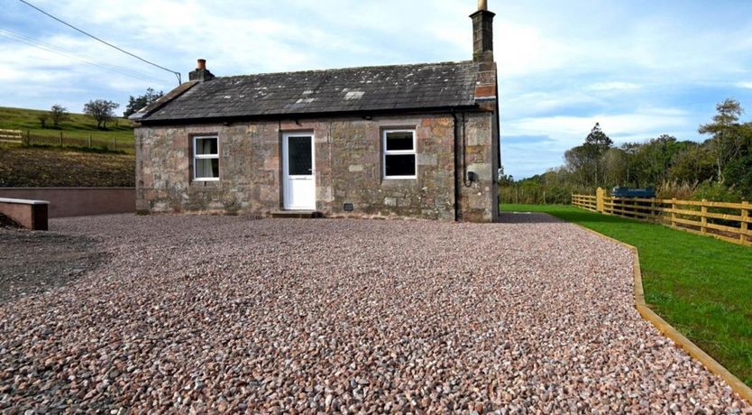
{"label": "whole single-storey stone cottage with slate roof and chimneys", "polygon": [[493,17],[481,0],[461,62],[215,77],[198,60],[131,117],[137,208],[493,221]]}

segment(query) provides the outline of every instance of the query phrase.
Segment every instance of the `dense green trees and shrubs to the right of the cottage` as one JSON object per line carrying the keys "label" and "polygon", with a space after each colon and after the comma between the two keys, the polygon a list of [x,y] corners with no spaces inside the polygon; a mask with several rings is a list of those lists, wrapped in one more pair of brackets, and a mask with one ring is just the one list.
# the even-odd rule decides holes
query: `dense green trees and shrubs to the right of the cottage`
{"label": "dense green trees and shrubs to the right of the cottage", "polygon": [[569,203],[573,193],[601,187],[655,188],[658,198],[752,200],[752,122],[735,99],[716,106],[700,125],[702,143],[661,134],[615,146],[600,124],[581,145],[564,153],[564,165],[525,180],[502,174],[502,203]]}

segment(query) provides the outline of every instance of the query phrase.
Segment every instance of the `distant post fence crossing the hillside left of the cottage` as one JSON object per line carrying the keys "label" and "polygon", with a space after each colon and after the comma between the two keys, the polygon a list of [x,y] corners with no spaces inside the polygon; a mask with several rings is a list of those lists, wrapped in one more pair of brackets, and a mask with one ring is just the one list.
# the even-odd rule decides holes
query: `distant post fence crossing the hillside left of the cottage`
{"label": "distant post fence crossing the hillside left of the cottage", "polygon": [[[5,132],[5,133],[4,133]],[[6,134],[9,138],[4,138]],[[25,144],[42,144],[42,145],[57,145],[62,147],[63,145],[75,145],[78,147],[87,148],[105,148],[107,150],[121,150],[125,152],[133,152],[133,143],[125,142],[122,138],[120,141],[117,137],[103,138],[97,137],[94,134],[75,134],[72,135],[69,132],[57,132],[50,130],[48,134],[34,134],[31,130],[0,130],[0,141],[12,141],[14,143]]]}

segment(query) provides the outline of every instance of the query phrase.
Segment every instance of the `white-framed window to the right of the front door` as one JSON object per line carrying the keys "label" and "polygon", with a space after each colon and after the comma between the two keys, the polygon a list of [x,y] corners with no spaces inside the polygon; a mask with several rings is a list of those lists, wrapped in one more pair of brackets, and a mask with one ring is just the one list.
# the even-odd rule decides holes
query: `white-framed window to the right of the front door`
{"label": "white-framed window to the right of the front door", "polygon": [[417,178],[415,130],[384,130],[381,149],[384,179]]}

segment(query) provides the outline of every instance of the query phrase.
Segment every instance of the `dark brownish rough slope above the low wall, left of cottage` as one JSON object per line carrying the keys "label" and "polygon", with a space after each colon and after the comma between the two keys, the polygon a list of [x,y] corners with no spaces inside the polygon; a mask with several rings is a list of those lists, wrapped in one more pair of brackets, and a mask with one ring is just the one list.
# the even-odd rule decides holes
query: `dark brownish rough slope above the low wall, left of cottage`
{"label": "dark brownish rough slope above the low wall, left of cottage", "polygon": [[132,154],[0,143],[0,188],[133,186]]}

